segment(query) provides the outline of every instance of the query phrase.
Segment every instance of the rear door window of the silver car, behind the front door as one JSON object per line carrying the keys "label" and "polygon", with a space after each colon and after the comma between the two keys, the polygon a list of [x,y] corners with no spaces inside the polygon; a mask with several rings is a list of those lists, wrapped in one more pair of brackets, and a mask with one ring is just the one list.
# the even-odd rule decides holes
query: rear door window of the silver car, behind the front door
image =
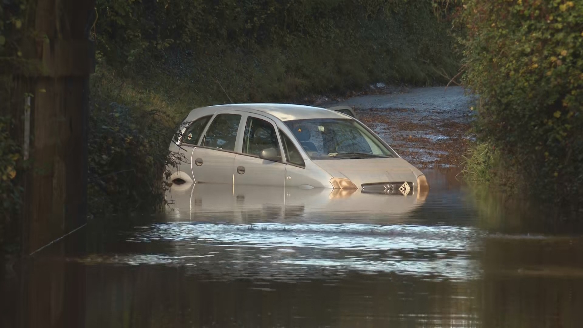
{"label": "rear door window of the silver car, behind the front door", "polygon": [[235,150],[235,141],[241,115],[239,114],[219,114],[215,117],[208,130],[202,145],[210,148],[223,149],[226,151]]}

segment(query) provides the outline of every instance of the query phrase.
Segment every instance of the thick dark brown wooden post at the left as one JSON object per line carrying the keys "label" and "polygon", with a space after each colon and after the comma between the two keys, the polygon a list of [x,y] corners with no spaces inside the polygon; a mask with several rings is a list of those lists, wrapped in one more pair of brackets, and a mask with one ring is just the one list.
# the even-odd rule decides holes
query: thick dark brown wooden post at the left
{"label": "thick dark brown wooden post at the left", "polygon": [[[30,158],[25,178],[23,253],[79,228],[86,220],[87,117],[95,0],[38,0],[33,54],[43,73],[29,78]],[[30,53],[29,53],[30,54]],[[24,124],[24,122],[23,122]],[[22,129],[26,131],[26,127]],[[26,132],[25,132],[26,134]]]}

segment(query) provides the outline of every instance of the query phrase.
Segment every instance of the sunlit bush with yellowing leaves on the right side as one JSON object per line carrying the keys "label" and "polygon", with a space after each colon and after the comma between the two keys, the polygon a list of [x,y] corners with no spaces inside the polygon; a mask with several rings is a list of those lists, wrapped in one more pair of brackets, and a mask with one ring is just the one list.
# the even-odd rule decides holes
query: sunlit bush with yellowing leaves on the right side
{"label": "sunlit bush with yellowing leaves on the right side", "polygon": [[465,83],[478,136],[537,197],[583,198],[583,3],[464,1]]}

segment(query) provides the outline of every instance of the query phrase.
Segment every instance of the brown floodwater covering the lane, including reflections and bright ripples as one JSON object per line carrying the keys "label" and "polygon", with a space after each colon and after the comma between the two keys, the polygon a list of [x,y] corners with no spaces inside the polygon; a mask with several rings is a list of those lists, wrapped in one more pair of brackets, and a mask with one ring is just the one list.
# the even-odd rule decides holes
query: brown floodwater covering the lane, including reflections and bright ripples
{"label": "brown floodwater covering the lane, including reflections and bright ripples", "polygon": [[424,173],[421,197],[173,186],[163,215],[6,270],[0,326],[581,326],[581,235],[501,229],[454,169]]}

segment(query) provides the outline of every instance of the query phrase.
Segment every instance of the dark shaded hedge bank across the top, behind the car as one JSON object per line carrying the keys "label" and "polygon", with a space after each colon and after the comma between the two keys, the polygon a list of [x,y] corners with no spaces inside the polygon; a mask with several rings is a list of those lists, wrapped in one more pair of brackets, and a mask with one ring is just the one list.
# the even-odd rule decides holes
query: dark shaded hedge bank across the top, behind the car
{"label": "dark shaded hedge bank across the top, behind the car", "polygon": [[458,68],[431,0],[97,0],[97,12],[99,56],[118,72],[171,75],[199,93],[219,79],[245,89],[238,102],[441,83]]}

